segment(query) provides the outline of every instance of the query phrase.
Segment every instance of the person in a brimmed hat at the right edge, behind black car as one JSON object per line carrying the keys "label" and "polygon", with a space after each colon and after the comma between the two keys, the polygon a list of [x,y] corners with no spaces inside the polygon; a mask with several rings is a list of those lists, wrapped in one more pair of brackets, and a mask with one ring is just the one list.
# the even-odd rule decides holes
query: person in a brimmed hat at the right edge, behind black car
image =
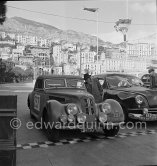
{"label": "person in a brimmed hat at the right edge, behind black car", "polygon": [[157,88],[157,74],[155,73],[155,70],[153,68],[150,68],[148,72],[150,75],[150,88]]}

